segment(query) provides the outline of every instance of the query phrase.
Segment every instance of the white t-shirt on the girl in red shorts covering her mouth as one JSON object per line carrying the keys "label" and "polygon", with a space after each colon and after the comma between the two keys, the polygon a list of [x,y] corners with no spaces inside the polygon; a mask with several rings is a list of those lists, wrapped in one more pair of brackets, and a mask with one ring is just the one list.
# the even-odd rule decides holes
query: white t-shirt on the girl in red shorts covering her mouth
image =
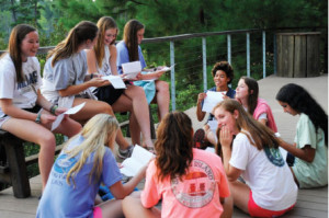
{"label": "white t-shirt on the girl in red shorts covering her mouth", "polygon": [[297,185],[279,149],[272,151],[280,164],[270,161],[265,150],[258,150],[239,133],[232,144],[230,165],[242,170],[242,177],[252,191],[256,204],[264,209],[283,210],[296,203]]}

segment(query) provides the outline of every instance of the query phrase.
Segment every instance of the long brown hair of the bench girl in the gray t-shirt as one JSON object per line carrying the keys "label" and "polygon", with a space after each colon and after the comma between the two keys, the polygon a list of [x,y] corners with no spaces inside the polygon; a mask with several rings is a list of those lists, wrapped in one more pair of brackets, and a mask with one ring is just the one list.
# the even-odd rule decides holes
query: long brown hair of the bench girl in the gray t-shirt
{"label": "long brown hair of the bench girl in the gray t-shirt", "polygon": [[54,55],[52,66],[78,51],[79,46],[86,41],[93,41],[99,32],[98,26],[89,21],[81,21],[70,30],[68,36],[48,53],[47,58]]}

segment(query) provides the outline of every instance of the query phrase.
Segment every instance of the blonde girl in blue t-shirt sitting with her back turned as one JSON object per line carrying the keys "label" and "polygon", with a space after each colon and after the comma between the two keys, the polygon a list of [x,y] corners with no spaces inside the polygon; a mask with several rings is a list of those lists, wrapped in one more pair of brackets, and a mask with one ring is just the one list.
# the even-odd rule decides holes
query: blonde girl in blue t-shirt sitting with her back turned
{"label": "blonde girl in blue t-shirt sitting with her back turned", "polygon": [[[122,184],[112,151],[117,129],[115,117],[98,114],[65,144],[52,169],[36,217],[123,217],[121,199],[145,177],[146,167]],[[101,183],[115,199],[95,205]]]}

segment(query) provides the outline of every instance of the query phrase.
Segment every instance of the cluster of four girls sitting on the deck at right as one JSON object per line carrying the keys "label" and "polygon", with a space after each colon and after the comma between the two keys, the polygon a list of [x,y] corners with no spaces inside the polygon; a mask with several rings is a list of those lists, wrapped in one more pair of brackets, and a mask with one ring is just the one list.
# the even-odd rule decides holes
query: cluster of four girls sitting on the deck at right
{"label": "cluster of four girls sitting on the deck at right", "polygon": [[[328,115],[300,85],[282,87],[276,94],[279,104],[284,112],[300,115],[294,145],[290,145],[274,136],[277,127],[269,104],[259,97],[258,82],[241,77],[235,96],[230,96],[232,68],[217,69],[223,74],[218,81],[214,72],[217,66],[229,64],[217,62],[212,72],[216,88],[209,91],[226,91],[225,100],[209,115],[218,123],[217,134],[214,136],[207,126],[198,129],[194,146],[215,146],[237,207],[252,217],[281,216],[294,207],[297,187],[328,184]],[[198,94],[198,121],[205,115],[201,111],[205,97],[206,93]],[[288,151],[287,157],[279,147]]]}

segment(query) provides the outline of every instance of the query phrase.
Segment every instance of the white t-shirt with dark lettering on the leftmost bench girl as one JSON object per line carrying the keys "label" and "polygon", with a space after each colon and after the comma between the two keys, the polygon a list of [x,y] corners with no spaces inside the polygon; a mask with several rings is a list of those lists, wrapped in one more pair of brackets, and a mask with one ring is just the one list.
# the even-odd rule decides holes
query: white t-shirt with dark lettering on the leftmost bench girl
{"label": "white t-shirt with dark lettering on the leftmost bench girl", "polygon": [[[36,57],[27,57],[22,71],[25,80],[16,81],[16,70],[9,54],[0,59],[0,99],[11,99],[19,108],[32,108],[37,100],[37,90],[42,85],[39,62]],[[0,117],[4,113],[0,107]]]}

